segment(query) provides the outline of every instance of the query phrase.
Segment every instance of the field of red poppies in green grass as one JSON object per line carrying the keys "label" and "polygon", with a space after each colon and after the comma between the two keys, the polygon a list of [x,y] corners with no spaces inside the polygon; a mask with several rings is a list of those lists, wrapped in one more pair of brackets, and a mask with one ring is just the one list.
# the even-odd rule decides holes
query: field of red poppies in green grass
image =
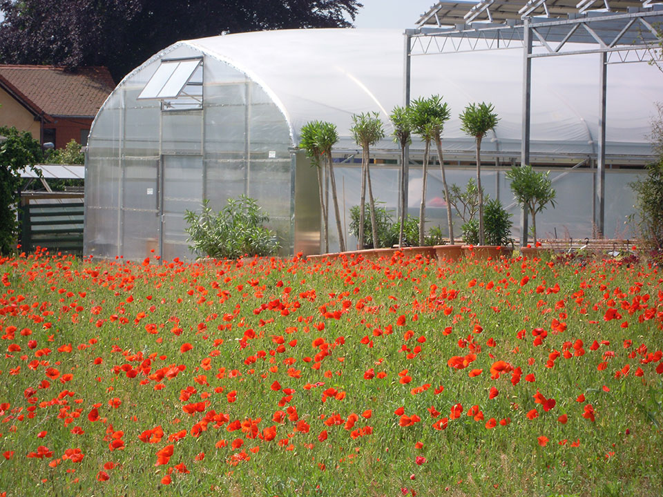
{"label": "field of red poppies in green grass", "polygon": [[663,273],[0,260],[0,495],[660,496]]}

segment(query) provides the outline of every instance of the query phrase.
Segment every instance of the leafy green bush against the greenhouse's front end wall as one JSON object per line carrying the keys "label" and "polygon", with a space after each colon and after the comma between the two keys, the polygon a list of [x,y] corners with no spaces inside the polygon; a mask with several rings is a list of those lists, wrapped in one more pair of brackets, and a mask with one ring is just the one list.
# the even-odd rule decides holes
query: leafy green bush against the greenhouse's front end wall
{"label": "leafy green bush against the greenhouse's front end wall", "polygon": [[278,250],[276,236],[262,226],[269,216],[262,213],[255,199],[240,195],[228,199],[218,215],[211,213],[209,200],[202,202],[202,213],[186,211],[189,223],[189,248],[209,257],[238,259],[244,255],[273,255]]}

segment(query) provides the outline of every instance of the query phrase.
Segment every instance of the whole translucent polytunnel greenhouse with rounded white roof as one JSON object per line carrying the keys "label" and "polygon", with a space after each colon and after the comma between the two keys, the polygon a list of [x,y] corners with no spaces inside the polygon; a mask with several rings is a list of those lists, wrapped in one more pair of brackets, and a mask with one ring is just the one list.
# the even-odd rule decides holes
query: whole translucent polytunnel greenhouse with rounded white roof
{"label": "whole translucent polytunnel greenhouse with rounded white roof", "polygon": [[[557,208],[537,217],[539,237],[591,236],[596,157],[596,60],[542,60],[532,68],[531,162],[551,169]],[[626,237],[628,182],[651,159],[647,135],[663,76],[647,64],[608,70],[606,236]],[[517,214],[504,173],[521,152],[521,50],[412,59],[412,98],[443,95],[452,110],[443,133],[450,184],[474,175],[474,139],[458,118],[471,102],[492,102],[500,121],[483,141],[482,183]],[[151,251],[192,257],[184,212],[215,210],[230,197],[258,200],[283,253],[320,251],[317,175],[298,150],[307,121],[336,124],[336,184],[346,237],[359,203],[361,148],[352,115],[376,112],[387,137],[372,149],[374,195],[396,211],[400,150],[390,133],[403,105],[401,30],[285,30],[180,41],[127,75],[95,119],[86,159],[85,253],[140,259]],[[421,202],[423,144],[410,148],[407,206]],[[432,154],[434,156],[434,154]],[[433,158],[433,157],[432,157]],[[640,167],[640,169],[638,169]],[[439,166],[427,180],[427,226],[446,230]],[[331,249],[337,245],[330,213]],[[517,234],[517,215],[514,217]],[[356,246],[353,237],[347,246]]]}

